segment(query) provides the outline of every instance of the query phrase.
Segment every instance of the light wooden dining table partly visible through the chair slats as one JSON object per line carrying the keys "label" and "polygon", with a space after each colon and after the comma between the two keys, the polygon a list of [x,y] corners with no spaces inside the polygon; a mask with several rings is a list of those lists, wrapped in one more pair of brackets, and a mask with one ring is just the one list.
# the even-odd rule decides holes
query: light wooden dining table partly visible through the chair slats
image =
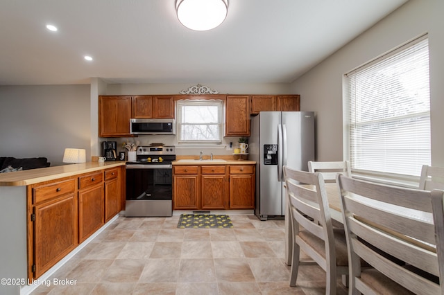
{"label": "light wooden dining table partly visible through the chair slats", "polygon": [[[336,183],[333,184],[325,184],[325,193],[327,193],[327,199],[328,199],[328,205],[330,207],[330,217],[332,217],[332,220],[334,220],[335,222],[339,222],[339,224],[343,224],[343,216],[342,216],[342,212],[341,212],[341,193],[339,190],[339,185]],[[363,197],[363,199],[366,199]],[[398,213],[400,215],[405,215],[411,218],[416,218],[419,220],[425,220],[427,222],[431,222],[433,223],[433,215],[432,213],[424,213],[421,211],[416,211],[413,209],[409,209],[409,208],[403,208],[400,206],[395,206],[395,205],[391,205],[391,204],[386,204],[386,203],[382,203],[382,202],[378,202],[375,200],[370,200],[370,199],[366,199],[366,202],[372,202],[374,206],[384,206],[384,209],[386,209],[387,211],[392,211],[395,213]],[[287,265],[291,265],[291,249],[293,248],[293,231],[291,230],[291,221],[289,220],[289,206],[287,204],[286,207],[286,212],[285,212],[285,261],[287,263]],[[359,217],[357,217],[359,218]],[[400,233],[397,233],[395,231],[391,231],[390,229],[386,229],[386,228],[382,228],[381,226],[379,226],[379,224],[375,224],[374,222],[372,222],[371,220],[364,220],[364,222],[366,222],[367,224],[369,224],[370,226],[374,226],[377,227],[379,229],[383,229],[384,231],[386,231],[387,233],[390,233],[391,235],[394,235],[398,238],[402,238],[403,240],[406,240],[407,242],[410,242],[412,244],[416,244],[418,247],[422,247],[424,249],[427,249],[429,251],[434,251],[436,252],[436,247],[435,245],[432,244],[428,244],[426,242],[422,242],[420,240],[416,240],[413,238],[410,238],[406,235],[402,235]]]}

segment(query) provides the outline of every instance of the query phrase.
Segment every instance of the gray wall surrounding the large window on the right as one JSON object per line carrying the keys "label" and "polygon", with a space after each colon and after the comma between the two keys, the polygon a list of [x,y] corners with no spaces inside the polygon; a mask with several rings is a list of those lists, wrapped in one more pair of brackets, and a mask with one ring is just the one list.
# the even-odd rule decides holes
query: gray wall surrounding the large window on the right
{"label": "gray wall surrounding the large window on the right", "polygon": [[291,85],[302,111],[316,111],[318,161],[343,159],[343,74],[429,33],[432,165],[444,166],[444,1],[410,0]]}

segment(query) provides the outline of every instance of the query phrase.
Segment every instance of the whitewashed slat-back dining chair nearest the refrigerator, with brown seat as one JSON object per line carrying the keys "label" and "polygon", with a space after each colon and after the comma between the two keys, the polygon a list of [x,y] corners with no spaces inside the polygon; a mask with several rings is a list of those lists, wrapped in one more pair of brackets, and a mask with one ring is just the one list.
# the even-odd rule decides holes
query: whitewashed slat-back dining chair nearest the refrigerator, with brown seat
{"label": "whitewashed slat-back dining chair nearest the refrigerator, with brown seat", "polygon": [[[323,176],[284,166],[284,177],[293,239],[290,286],[296,286],[299,265],[316,262],[326,272],[325,294],[336,294],[336,276],[348,274],[347,244],[344,230],[332,226]],[[300,260],[300,251],[314,262]]]}

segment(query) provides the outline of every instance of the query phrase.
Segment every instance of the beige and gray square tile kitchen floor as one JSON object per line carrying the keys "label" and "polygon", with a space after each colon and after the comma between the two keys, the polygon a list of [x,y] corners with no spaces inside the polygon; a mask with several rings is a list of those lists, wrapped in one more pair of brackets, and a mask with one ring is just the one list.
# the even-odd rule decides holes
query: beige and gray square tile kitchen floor
{"label": "beige and gray square tile kitchen floor", "polygon": [[120,216],[51,277],[76,285],[40,285],[32,294],[325,294],[317,266],[300,267],[298,287],[289,287],[284,220],[230,217],[234,229]]}

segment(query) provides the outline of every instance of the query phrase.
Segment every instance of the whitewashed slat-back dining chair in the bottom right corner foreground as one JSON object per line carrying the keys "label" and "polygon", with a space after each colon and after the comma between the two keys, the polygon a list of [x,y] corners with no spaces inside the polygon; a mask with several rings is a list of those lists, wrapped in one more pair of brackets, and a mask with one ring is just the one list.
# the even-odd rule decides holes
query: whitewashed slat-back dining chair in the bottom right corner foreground
{"label": "whitewashed slat-back dining chair in the bottom right corner foreground", "polygon": [[[384,186],[344,175],[337,176],[337,183],[350,260],[349,294],[444,294],[444,192]],[[441,210],[436,213],[441,214],[437,227],[432,197]],[[361,259],[373,269],[361,269]]]}

